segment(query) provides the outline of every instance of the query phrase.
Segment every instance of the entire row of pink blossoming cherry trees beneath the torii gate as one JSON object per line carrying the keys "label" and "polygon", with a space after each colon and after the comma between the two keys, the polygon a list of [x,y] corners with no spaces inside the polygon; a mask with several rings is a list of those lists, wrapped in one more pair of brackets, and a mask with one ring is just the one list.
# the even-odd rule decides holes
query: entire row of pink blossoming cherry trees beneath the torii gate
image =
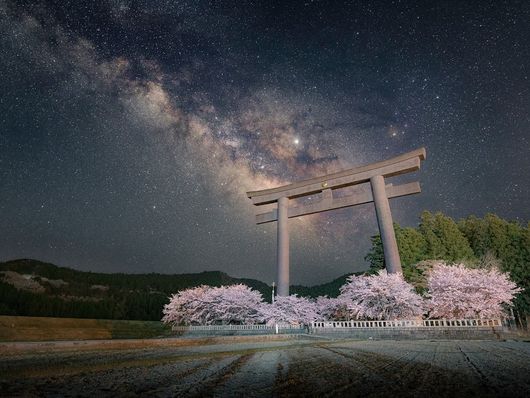
{"label": "entire row of pink blossoming cherry trees beneath the torii gate", "polygon": [[337,298],[290,296],[263,301],[245,285],[184,289],[164,306],[163,322],[177,326],[277,324],[310,325],[314,321],[400,319],[504,319],[521,291],[496,268],[472,269],[433,260],[424,294],[401,274],[352,275]]}

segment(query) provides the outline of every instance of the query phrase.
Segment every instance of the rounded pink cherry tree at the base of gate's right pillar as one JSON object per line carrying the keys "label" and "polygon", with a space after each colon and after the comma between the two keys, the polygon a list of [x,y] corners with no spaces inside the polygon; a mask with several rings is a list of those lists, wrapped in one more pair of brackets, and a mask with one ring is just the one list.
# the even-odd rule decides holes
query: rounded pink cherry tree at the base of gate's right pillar
{"label": "rounded pink cherry tree at the base of gate's right pillar", "polygon": [[401,274],[352,275],[340,288],[352,318],[413,319],[424,312],[424,300]]}

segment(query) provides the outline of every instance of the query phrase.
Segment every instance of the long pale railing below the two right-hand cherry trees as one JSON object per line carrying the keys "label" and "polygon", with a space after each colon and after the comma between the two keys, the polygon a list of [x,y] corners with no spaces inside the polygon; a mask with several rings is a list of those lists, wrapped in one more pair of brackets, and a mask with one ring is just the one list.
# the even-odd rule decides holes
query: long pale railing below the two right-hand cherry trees
{"label": "long pale railing below the two right-hand cherry trees", "polygon": [[411,319],[396,321],[319,321],[311,328],[490,328],[501,327],[500,319]]}

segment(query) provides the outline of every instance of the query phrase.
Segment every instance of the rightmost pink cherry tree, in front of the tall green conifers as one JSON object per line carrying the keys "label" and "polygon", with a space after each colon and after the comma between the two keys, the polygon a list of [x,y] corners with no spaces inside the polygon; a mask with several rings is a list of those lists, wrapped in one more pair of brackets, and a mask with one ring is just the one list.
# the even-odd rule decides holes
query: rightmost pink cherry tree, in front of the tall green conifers
{"label": "rightmost pink cherry tree, in front of the tall green conifers", "polygon": [[471,269],[462,264],[436,264],[429,272],[427,307],[431,318],[497,318],[521,291],[496,268]]}

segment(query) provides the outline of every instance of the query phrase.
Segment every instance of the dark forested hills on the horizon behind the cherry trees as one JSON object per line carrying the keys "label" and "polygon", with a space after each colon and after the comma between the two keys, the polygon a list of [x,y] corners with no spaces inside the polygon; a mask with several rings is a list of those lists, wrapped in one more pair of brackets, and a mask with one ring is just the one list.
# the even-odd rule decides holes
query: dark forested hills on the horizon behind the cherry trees
{"label": "dark forested hills on the horizon behind the cherry trees", "polygon": [[[292,286],[291,294],[336,297],[348,275],[329,283]],[[32,259],[0,262],[0,315],[160,320],[168,297],[189,287],[244,283],[271,299],[271,287],[220,271],[194,274],[96,273]]]}

